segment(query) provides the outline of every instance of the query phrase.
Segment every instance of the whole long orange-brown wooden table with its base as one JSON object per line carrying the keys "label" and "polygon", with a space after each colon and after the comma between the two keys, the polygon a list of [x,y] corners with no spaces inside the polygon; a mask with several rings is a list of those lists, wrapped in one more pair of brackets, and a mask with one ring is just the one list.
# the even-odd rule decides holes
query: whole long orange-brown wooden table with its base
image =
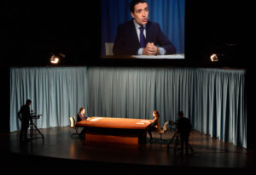
{"label": "whole long orange-brown wooden table with its base", "polygon": [[86,127],[85,139],[126,144],[146,143],[147,129],[151,120],[112,117],[91,117],[79,121],[77,127]]}

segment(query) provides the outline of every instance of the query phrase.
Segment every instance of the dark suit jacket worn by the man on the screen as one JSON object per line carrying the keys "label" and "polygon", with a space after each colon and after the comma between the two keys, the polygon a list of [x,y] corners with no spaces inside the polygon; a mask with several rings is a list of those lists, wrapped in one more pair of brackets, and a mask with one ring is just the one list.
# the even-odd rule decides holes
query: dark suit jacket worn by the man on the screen
{"label": "dark suit jacket worn by the man on the screen", "polygon": [[[152,21],[148,21],[146,25],[146,44],[148,42],[154,42],[155,46],[165,48],[166,54],[176,54],[176,48],[160,30],[160,25]],[[113,44],[113,54],[136,55],[139,48],[140,42],[133,20],[119,25],[117,37]]]}

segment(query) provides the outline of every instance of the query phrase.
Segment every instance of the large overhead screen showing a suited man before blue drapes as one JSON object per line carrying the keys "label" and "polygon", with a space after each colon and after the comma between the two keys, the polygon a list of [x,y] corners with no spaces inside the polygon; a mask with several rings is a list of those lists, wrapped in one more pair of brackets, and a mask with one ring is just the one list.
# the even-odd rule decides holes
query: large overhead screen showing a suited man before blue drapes
{"label": "large overhead screen showing a suited man before blue drapes", "polygon": [[[101,58],[184,59],[185,0],[147,0],[137,3],[134,11],[131,1],[101,1]],[[140,49],[139,25],[144,26],[148,52]]]}

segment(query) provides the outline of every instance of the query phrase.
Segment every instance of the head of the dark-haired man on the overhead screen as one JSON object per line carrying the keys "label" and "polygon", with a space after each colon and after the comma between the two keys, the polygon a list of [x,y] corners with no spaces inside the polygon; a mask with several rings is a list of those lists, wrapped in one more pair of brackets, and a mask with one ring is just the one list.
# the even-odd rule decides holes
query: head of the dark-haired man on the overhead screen
{"label": "head of the dark-haired man on the overhead screen", "polygon": [[146,25],[148,23],[148,3],[137,3],[131,16],[137,24]]}

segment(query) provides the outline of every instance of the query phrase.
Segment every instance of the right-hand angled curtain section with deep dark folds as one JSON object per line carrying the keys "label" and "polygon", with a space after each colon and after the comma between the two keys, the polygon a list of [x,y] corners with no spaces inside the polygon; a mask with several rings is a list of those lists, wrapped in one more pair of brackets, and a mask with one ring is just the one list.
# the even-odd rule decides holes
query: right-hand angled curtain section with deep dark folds
{"label": "right-hand angled curtain section with deep dark folds", "polygon": [[196,71],[196,130],[226,142],[247,147],[245,71],[198,69]]}

